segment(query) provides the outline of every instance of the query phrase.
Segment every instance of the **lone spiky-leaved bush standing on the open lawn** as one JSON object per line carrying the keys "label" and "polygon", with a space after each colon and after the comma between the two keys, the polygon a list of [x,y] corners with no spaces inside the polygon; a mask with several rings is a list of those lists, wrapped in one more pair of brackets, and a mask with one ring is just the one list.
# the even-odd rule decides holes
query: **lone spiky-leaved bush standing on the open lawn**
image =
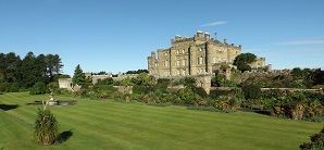
{"label": "lone spiky-leaved bush standing on the open lawn", "polygon": [[49,110],[38,109],[35,121],[35,139],[41,145],[52,145],[58,137],[58,122]]}

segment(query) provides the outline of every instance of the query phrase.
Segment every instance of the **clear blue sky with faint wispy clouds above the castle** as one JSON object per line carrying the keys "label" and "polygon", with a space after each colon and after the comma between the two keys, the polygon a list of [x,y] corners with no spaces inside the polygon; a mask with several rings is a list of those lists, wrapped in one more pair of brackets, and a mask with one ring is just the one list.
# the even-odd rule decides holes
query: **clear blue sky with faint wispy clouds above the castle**
{"label": "clear blue sky with faint wispy clouds above the castle", "polygon": [[0,52],[58,53],[63,72],[146,68],[175,35],[217,33],[274,68],[324,68],[323,0],[0,0]]}

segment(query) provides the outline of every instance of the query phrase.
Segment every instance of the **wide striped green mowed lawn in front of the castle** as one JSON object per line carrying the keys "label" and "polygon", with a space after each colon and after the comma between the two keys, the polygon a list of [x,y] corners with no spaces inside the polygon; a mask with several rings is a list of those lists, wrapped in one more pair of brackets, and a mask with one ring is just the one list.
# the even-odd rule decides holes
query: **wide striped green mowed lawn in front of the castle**
{"label": "wide striped green mowed lawn in front of the castle", "polygon": [[282,120],[256,113],[216,113],[184,107],[152,107],[60,97],[77,104],[53,107],[60,132],[73,135],[63,143],[38,146],[34,118],[40,105],[26,105],[48,96],[0,95],[0,149],[298,149],[323,123]]}

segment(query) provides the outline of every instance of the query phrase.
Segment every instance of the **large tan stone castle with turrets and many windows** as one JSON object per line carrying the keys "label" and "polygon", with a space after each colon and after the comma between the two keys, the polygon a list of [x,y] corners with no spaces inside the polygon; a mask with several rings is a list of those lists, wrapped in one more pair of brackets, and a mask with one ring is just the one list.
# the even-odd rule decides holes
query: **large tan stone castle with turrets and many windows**
{"label": "large tan stone castle with turrets and many windows", "polygon": [[[235,58],[241,52],[240,45],[227,43],[226,39],[220,41],[199,30],[191,38],[177,35],[171,45],[171,48],[158,49],[158,54],[151,52],[148,57],[150,75],[172,77],[212,74],[224,64],[233,67]],[[264,67],[265,59],[257,58],[250,66]]]}

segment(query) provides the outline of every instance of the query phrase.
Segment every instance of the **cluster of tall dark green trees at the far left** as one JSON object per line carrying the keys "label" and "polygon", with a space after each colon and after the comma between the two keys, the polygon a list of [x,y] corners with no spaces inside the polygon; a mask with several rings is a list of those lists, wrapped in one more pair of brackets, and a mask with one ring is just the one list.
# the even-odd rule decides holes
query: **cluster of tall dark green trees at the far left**
{"label": "cluster of tall dark green trees at the far left", "polygon": [[36,83],[54,82],[63,67],[60,55],[28,52],[21,59],[14,52],[0,53],[0,91],[28,89]]}

